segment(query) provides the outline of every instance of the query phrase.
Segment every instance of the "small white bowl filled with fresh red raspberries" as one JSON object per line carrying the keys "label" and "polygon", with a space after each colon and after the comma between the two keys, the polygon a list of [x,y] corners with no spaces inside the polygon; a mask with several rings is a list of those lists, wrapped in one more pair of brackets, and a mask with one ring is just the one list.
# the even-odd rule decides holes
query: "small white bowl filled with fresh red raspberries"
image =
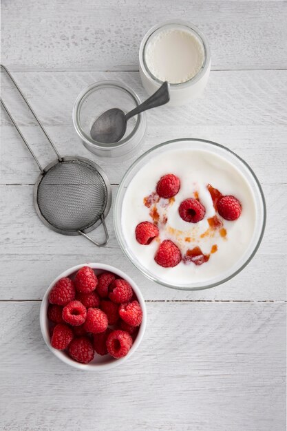
{"label": "small white bowl filled with fresh red raspberries", "polygon": [[120,365],[138,348],[146,326],[145,300],[120,269],[83,264],[50,284],[40,309],[48,348],[82,370]]}

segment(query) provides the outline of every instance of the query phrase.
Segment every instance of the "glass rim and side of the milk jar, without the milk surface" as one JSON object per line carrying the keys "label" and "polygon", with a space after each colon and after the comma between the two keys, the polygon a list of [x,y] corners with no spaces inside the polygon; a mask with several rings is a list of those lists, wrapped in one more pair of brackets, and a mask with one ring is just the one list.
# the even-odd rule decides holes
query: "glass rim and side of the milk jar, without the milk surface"
{"label": "glass rim and side of the milk jar, without the milk surface", "polygon": [[196,28],[193,24],[187,23],[185,21],[166,21],[159,25],[152,27],[147,34],[145,34],[142,42],[140,43],[140,53],[139,53],[139,67],[140,67],[140,78],[142,80],[142,85],[149,95],[153,94],[158,90],[162,81],[160,81],[154,74],[151,73],[149,67],[147,66],[146,54],[147,47],[149,43],[153,40],[155,36],[160,34],[164,30],[182,30],[184,32],[189,32],[198,40],[202,45],[204,50],[204,60],[202,66],[195,76],[190,78],[188,81],[182,83],[170,83],[170,96],[171,100],[169,105],[177,106],[184,105],[191,101],[193,98],[202,94],[204,87],[209,79],[209,72],[211,69],[211,54],[209,49],[209,43],[200,30]]}

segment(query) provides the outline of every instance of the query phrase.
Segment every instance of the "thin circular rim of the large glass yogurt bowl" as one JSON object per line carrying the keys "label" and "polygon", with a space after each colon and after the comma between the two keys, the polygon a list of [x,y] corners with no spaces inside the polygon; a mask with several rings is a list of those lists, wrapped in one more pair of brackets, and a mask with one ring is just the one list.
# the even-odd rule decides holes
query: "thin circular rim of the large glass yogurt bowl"
{"label": "thin circular rim of the large glass yogurt bowl", "polygon": [[[219,280],[217,282],[213,282],[213,283],[207,284],[206,286],[200,286],[200,287],[192,287],[192,286],[184,286],[184,287],[182,287],[182,286],[174,286],[174,285],[171,285],[171,284],[167,284],[165,282],[162,282],[161,280],[158,280],[155,276],[151,275],[148,271],[145,271],[145,269],[139,268],[138,264],[136,264],[136,262],[134,261],[134,259],[129,255],[129,253],[127,253],[127,251],[125,249],[125,244],[123,244],[123,242],[122,242],[122,238],[120,236],[120,229],[118,229],[118,225],[117,225],[119,222],[118,222],[118,220],[116,220],[116,213],[118,213],[117,209],[118,209],[118,205],[119,205],[120,191],[122,191],[122,189],[123,189],[123,184],[125,182],[125,179],[129,175],[129,173],[131,172],[131,170],[134,169],[134,167],[138,164],[138,162],[140,162],[140,160],[142,160],[143,158],[145,158],[145,156],[147,156],[148,154],[150,154],[153,150],[159,149],[160,147],[164,147],[164,145],[169,145],[171,143],[176,143],[176,142],[187,142],[187,141],[191,141],[191,142],[197,141],[197,142],[201,142],[201,143],[207,143],[209,145],[213,145],[215,147],[219,147],[220,149],[228,151],[228,153],[230,153],[233,156],[235,156],[235,158],[237,158],[238,160],[240,160],[240,162],[242,162],[242,164],[248,169],[248,171],[250,172],[251,176],[255,180],[255,184],[258,187],[259,196],[260,196],[261,201],[262,201],[262,215],[263,215],[263,218],[262,218],[262,227],[261,227],[259,238],[257,240],[257,243],[255,244],[255,247],[253,248],[253,251],[251,252],[251,255],[248,256],[248,259],[246,259],[246,261],[240,266],[240,268],[238,268],[232,274],[228,275],[228,277],[225,277],[224,279]],[[264,236],[264,231],[265,231],[265,227],[266,227],[266,200],[265,200],[265,197],[264,197],[262,186],[260,185],[260,182],[259,182],[257,176],[255,175],[253,169],[251,169],[251,167],[248,165],[248,163],[243,158],[241,158],[240,156],[238,156],[234,151],[232,151],[231,149],[228,149],[224,145],[215,143],[213,140],[207,140],[207,139],[201,139],[201,138],[177,138],[177,139],[167,140],[164,143],[160,143],[160,144],[156,145],[155,147],[152,147],[152,148],[148,149],[147,151],[145,151],[144,154],[142,154],[140,157],[138,157],[131,164],[131,166],[129,167],[129,169],[127,169],[125,175],[123,176],[123,178],[120,181],[120,184],[118,186],[118,191],[116,193],[116,198],[115,198],[115,202],[114,202],[113,218],[114,218],[114,231],[116,233],[116,239],[118,240],[118,244],[120,244],[120,248],[122,249],[123,253],[127,256],[127,258],[129,259],[129,261],[132,264],[134,264],[134,266],[136,266],[136,268],[138,269],[138,271],[140,271],[141,273],[143,273],[145,275],[145,277],[149,278],[149,280],[152,280],[153,282],[161,284],[162,286],[165,286],[165,287],[168,287],[168,288],[173,288],[173,289],[175,289],[177,291],[203,291],[203,290],[206,290],[208,288],[219,286],[220,284],[224,284],[224,283],[228,282],[228,280],[231,280],[233,277],[235,277],[235,275],[239,274],[251,262],[251,260],[253,260],[253,257],[257,253],[257,250],[259,249],[259,246],[260,246],[260,244],[262,242],[262,238]]]}

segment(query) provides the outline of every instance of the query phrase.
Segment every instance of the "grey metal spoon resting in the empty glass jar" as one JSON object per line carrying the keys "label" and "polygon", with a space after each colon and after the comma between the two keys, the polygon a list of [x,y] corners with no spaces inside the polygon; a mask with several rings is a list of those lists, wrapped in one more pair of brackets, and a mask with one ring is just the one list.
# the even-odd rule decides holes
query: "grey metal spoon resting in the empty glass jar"
{"label": "grey metal spoon resting in the empty glass jar", "polygon": [[121,109],[112,108],[101,114],[91,127],[92,139],[104,144],[118,142],[127,130],[127,120],[140,112],[169,102],[169,83],[165,81],[161,87],[145,102],[125,114]]}

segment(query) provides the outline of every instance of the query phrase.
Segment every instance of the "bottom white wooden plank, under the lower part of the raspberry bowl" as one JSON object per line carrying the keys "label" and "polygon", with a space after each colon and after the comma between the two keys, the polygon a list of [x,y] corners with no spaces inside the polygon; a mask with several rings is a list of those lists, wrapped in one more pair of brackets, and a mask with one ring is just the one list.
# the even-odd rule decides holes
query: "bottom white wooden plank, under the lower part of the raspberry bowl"
{"label": "bottom white wooden plank, under the lower part of the raspberry bowl", "polygon": [[39,305],[0,303],[2,430],[285,429],[285,304],[147,303],[140,348],[100,375],[50,353]]}

